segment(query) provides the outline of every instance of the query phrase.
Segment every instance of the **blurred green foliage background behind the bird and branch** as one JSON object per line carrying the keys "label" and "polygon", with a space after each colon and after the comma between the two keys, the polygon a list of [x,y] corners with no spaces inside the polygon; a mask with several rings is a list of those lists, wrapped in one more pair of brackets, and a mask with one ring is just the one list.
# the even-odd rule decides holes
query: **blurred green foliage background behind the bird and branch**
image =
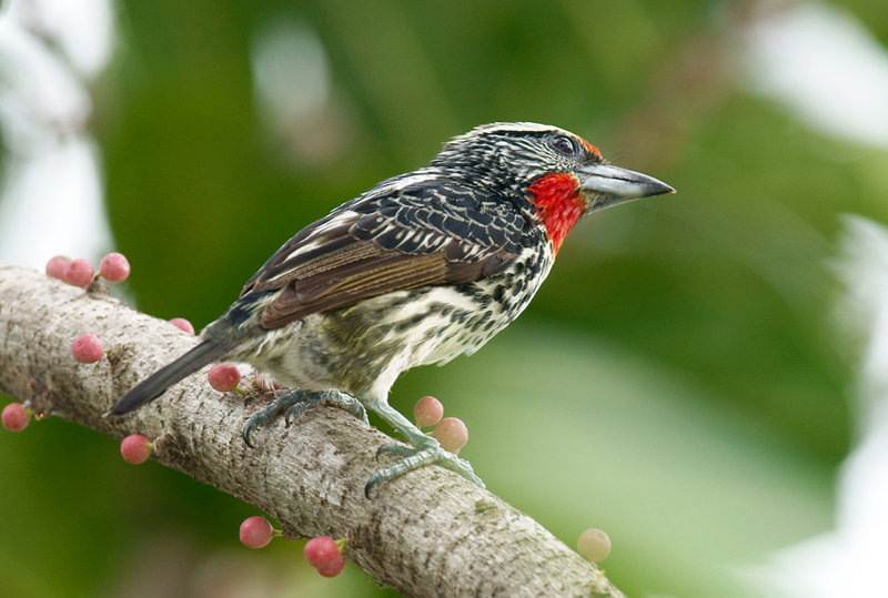
{"label": "blurred green foliage background behind the bird and branch", "polygon": [[[888,39],[888,4],[844,6]],[[830,527],[851,361],[827,260],[840,213],[888,216],[888,156],[745,89],[745,2],[118,8],[93,124],[141,310],[203,326],[299,229],[447,138],[557,124],[678,194],[581,223],[509,330],[392,403],[438,396],[488,487],[567,544],[607,530],[632,596],[740,595],[738,565]],[[334,98],[295,140],[269,132],[249,62],[261,28],[293,21],[320,36]],[[293,158],[315,144],[323,161]],[[354,566],[321,580],[301,545],[243,549],[252,508],[64,422],[3,435],[0,476],[10,596],[389,594]]]}

